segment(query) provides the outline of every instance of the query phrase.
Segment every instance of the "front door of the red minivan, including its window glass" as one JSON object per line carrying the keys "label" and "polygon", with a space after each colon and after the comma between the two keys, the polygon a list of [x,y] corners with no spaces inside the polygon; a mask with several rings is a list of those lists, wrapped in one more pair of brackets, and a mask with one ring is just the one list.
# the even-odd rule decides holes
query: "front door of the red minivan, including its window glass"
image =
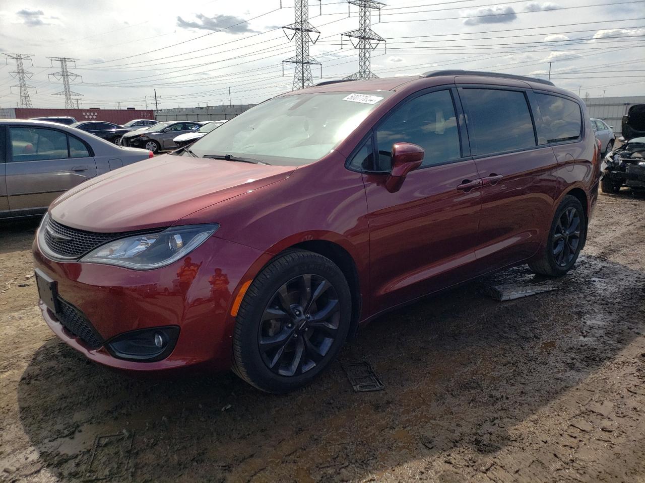
{"label": "front door of the red minivan, including its window glass", "polygon": [[425,155],[396,193],[385,188],[386,174],[363,175],[372,313],[471,278],[481,189],[457,119],[453,92],[435,90],[399,105],[374,131],[379,171],[390,169],[395,142],[418,144]]}

